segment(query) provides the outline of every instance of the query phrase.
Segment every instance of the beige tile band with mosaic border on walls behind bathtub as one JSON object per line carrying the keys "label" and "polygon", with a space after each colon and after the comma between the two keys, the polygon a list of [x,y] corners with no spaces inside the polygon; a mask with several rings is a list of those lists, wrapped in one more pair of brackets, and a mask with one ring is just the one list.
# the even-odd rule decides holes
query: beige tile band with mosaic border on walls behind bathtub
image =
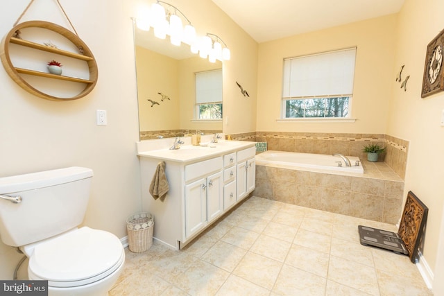
{"label": "beige tile band with mosaic border on walls behind bathtub", "polygon": [[383,143],[386,153],[379,155],[379,162],[386,163],[402,179],[405,176],[409,141],[388,134],[328,134],[305,132],[249,132],[231,134],[234,140],[266,141],[268,150],[357,156],[367,159],[362,148],[368,142]]}

